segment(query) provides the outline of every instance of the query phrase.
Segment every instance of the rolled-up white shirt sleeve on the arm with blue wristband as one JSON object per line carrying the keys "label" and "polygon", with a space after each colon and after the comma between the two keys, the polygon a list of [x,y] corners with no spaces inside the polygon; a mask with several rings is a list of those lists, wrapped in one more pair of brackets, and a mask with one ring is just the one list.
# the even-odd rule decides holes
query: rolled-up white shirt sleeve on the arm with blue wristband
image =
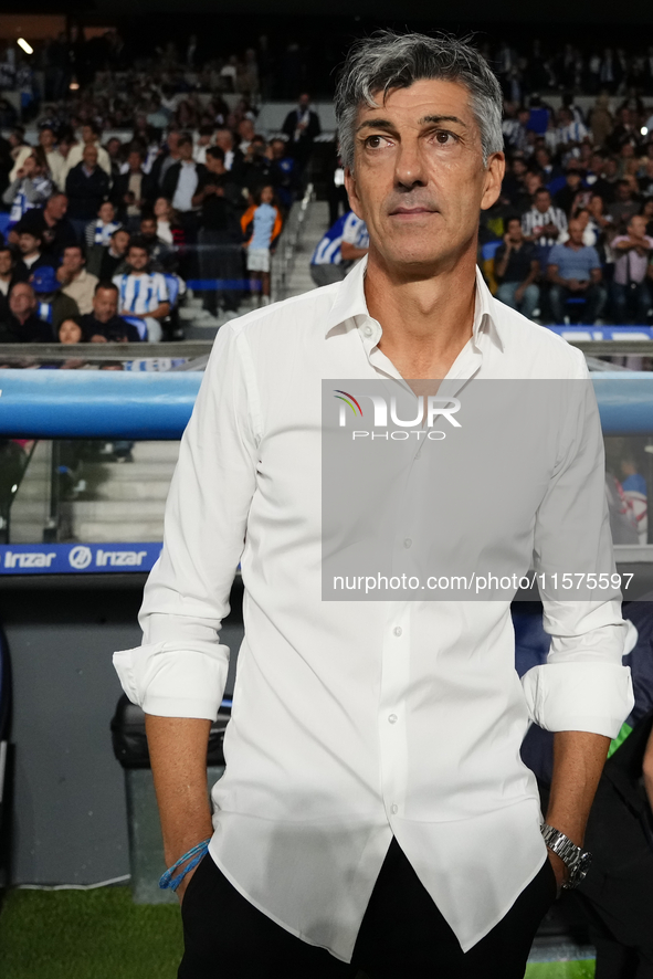
{"label": "rolled-up white shirt sleeve on the arm with blue wristband", "polygon": [[218,714],[229,667],[220,627],[256,482],[256,404],[245,337],[224,326],[181,440],[139,614],[143,644],[114,654],[123,689],[146,714]]}

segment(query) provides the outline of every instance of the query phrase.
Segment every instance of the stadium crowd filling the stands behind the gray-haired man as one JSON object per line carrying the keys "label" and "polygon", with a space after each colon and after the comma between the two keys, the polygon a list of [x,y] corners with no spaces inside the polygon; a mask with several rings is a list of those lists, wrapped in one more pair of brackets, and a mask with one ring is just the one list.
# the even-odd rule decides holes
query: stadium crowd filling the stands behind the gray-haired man
{"label": "stadium crowd filling the stands behind the gray-haired man", "polygon": [[[653,48],[531,49],[484,48],[506,99],[507,168],[481,215],[482,269],[499,299],[544,323],[645,323]],[[212,315],[251,291],[268,302],[270,256],[320,124],[304,94],[282,131],[257,131],[282,63],[266,39],[207,60],[191,35],[137,57],[115,30],[84,40],[73,29],[36,54],[42,101],[24,56],[8,48],[0,57],[0,88],[18,86],[38,125],[38,141],[19,125],[0,138],[0,341],[54,339],[64,323],[76,335],[71,322],[83,339],[176,338],[189,281]],[[536,88],[566,90],[561,106]],[[589,112],[578,93],[594,96]],[[0,98],[0,124],[15,123],[10,109]],[[335,277],[320,270],[319,281]],[[123,325],[89,334],[98,286],[103,302],[115,294],[109,319]]]}

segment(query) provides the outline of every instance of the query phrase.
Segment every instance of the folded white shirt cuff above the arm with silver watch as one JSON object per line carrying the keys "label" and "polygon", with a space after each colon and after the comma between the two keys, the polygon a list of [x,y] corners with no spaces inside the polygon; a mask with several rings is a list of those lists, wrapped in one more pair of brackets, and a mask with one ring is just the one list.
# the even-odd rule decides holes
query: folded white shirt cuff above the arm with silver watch
{"label": "folded white shirt cuff above the arm with silver watch", "polygon": [[615,738],[634,705],[630,667],[617,663],[545,663],[522,685],[531,719],[545,730]]}

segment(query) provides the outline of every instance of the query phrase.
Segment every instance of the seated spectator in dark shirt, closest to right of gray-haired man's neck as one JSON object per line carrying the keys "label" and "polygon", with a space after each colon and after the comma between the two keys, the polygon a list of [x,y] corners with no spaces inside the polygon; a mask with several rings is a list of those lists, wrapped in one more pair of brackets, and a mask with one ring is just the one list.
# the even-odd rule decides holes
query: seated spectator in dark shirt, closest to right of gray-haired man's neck
{"label": "seated spectator in dark shirt, closest to right of gray-haired man's neck", "polygon": [[539,306],[539,262],[537,248],[524,239],[519,218],[508,218],[503,244],[494,256],[494,275],[498,282],[497,299],[533,319]]}

